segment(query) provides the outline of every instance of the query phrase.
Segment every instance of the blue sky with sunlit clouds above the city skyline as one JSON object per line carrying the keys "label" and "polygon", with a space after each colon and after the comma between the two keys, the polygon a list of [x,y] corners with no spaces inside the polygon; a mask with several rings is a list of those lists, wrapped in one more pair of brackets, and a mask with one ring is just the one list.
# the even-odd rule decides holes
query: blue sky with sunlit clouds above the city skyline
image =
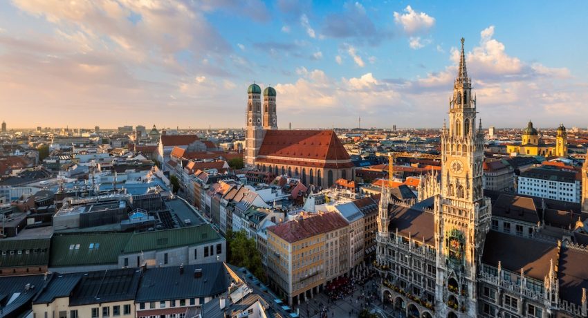
{"label": "blue sky with sunlit clouds above the city skyline", "polygon": [[464,37],[484,127],[588,127],[588,1],[0,1],[15,127],[441,127]]}

